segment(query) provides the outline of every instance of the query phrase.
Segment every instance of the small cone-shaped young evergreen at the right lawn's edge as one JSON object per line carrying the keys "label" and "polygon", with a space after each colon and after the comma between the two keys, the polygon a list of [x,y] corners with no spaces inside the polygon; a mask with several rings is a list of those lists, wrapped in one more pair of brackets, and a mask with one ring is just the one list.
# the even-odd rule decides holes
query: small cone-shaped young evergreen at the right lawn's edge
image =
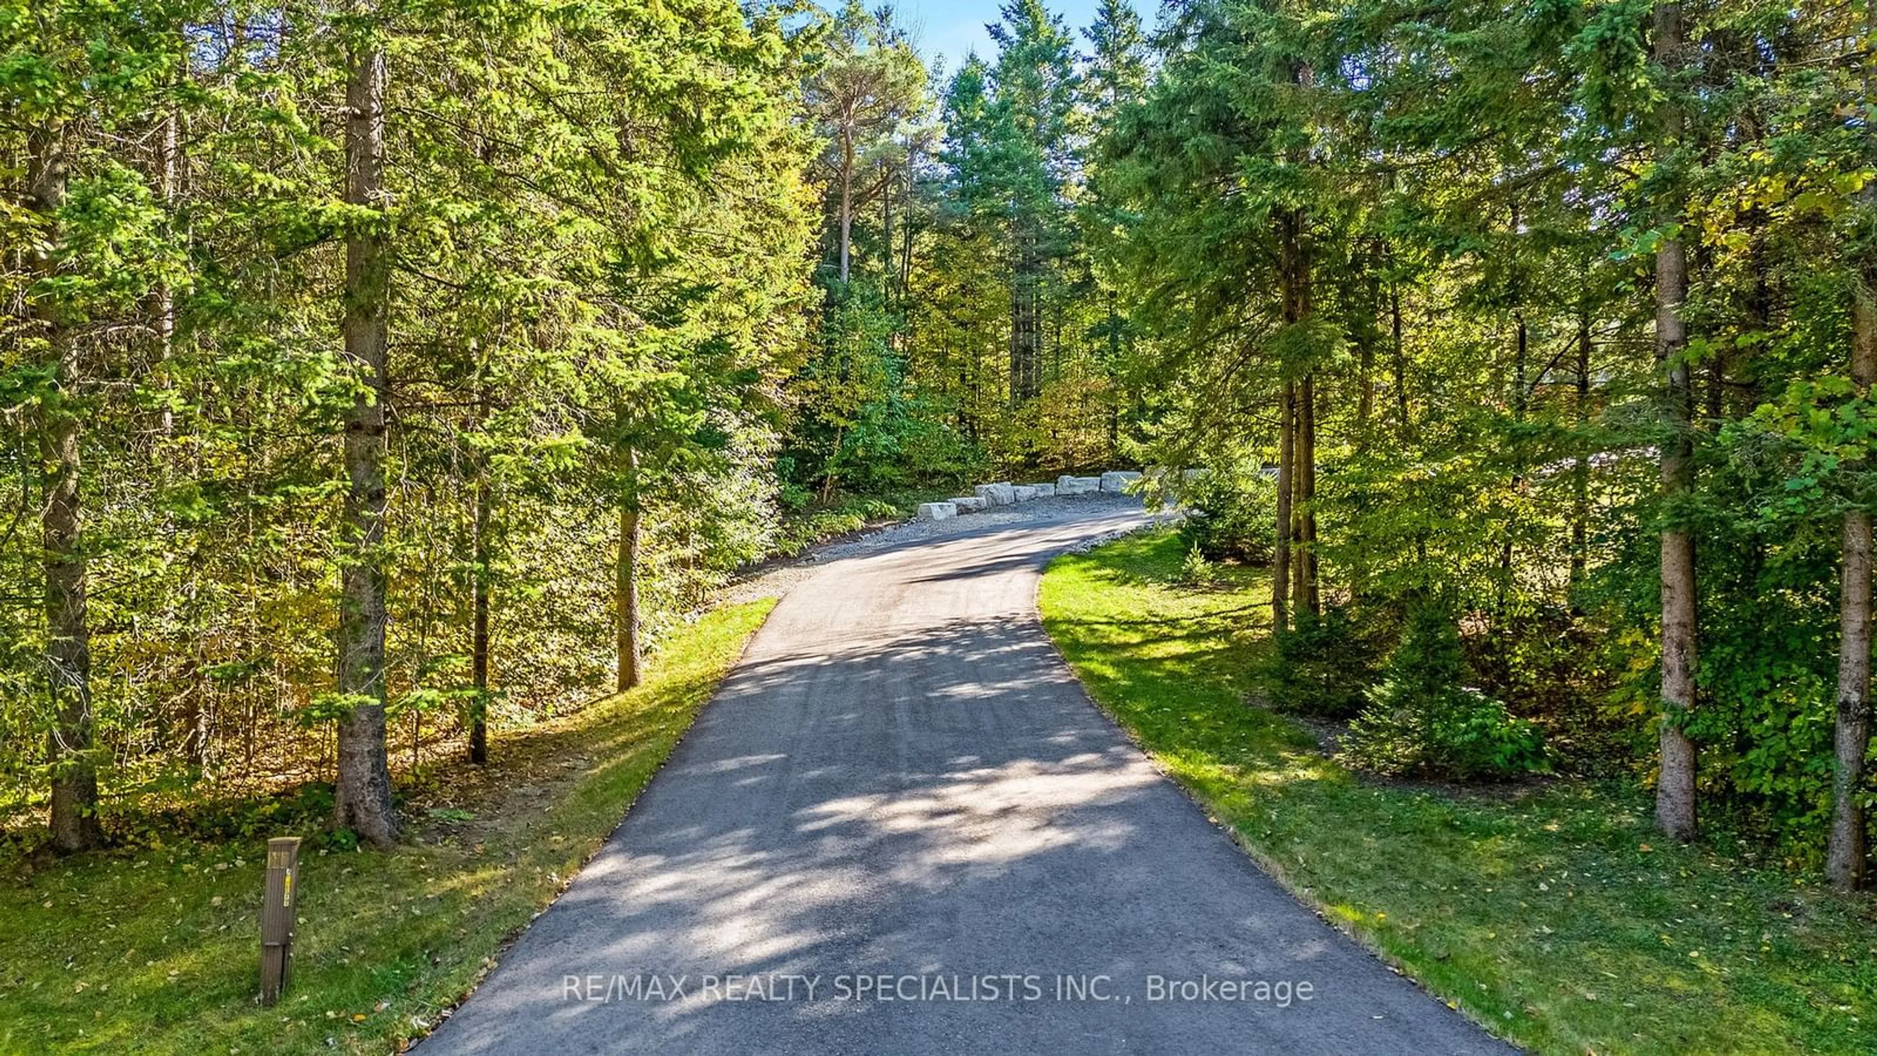
{"label": "small cone-shaped young evergreen at the right lawn's edge", "polygon": [[1387,675],[1350,725],[1342,759],[1381,774],[1460,782],[1543,770],[1539,729],[1503,703],[1462,686],[1464,675],[1453,616],[1436,605],[1415,609]]}

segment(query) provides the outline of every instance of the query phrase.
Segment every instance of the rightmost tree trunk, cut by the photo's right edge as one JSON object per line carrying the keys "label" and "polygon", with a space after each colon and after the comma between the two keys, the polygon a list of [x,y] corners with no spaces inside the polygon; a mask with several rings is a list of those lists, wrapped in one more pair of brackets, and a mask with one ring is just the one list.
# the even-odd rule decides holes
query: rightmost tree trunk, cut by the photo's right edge
{"label": "rightmost tree trunk, cut by the photo's right edge", "polygon": [[[1871,15],[1877,21],[1877,13]],[[1862,207],[1877,214],[1877,184]],[[1877,385],[1877,261],[1858,261],[1853,276],[1851,383],[1862,398]],[[1839,891],[1864,887],[1864,755],[1871,722],[1871,513],[1845,511],[1845,554],[1838,596],[1838,729],[1832,765],[1832,832],[1824,876]]]}

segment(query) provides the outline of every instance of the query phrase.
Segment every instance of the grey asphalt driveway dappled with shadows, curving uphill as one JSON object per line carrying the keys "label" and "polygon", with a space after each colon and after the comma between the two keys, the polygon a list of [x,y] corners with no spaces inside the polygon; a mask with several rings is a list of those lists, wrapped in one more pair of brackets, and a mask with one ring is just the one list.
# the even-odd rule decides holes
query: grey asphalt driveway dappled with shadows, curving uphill
{"label": "grey asphalt driveway dappled with shadows, curving uphill", "polygon": [[450,1052],[1502,1052],[1265,877],[1036,616],[1107,498],[800,582]]}

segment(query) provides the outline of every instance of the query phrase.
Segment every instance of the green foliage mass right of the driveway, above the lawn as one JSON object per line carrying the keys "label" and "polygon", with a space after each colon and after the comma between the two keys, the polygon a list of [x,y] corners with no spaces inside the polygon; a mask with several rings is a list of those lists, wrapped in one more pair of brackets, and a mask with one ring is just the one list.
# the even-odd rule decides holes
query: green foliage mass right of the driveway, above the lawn
{"label": "green foliage mass right of the driveway, above the lawn", "polygon": [[[1325,601],[1451,599],[1470,676],[1577,765],[1654,776],[1657,532],[1687,526],[1701,789],[1811,861],[1849,626],[1839,519],[1873,502],[1869,396],[1845,374],[1877,244],[1868,13],[1680,6],[1671,70],[1657,8],[1177,4],[1154,77],[1096,135],[1098,267],[1134,303],[1143,457],[1276,466],[1280,387],[1314,372]],[[1671,109],[1686,135],[1663,148]],[[1687,492],[1657,464],[1672,237],[1691,246]],[[1288,244],[1310,267],[1303,325]],[[1254,509],[1201,498],[1196,530]]]}

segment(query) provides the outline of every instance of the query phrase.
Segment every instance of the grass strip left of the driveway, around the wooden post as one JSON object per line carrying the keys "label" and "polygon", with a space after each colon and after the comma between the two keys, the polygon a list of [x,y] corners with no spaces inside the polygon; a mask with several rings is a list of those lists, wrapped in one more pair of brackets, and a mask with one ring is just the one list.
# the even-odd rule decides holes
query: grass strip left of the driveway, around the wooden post
{"label": "grass strip left of the driveway, around the wooden post", "polygon": [[441,774],[396,853],[306,851],[278,1007],[253,1002],[263,842],[21,862],[0,881],[0,1050],[402,1048],[593,855],[771,605],[706,614],[638,690]]}

